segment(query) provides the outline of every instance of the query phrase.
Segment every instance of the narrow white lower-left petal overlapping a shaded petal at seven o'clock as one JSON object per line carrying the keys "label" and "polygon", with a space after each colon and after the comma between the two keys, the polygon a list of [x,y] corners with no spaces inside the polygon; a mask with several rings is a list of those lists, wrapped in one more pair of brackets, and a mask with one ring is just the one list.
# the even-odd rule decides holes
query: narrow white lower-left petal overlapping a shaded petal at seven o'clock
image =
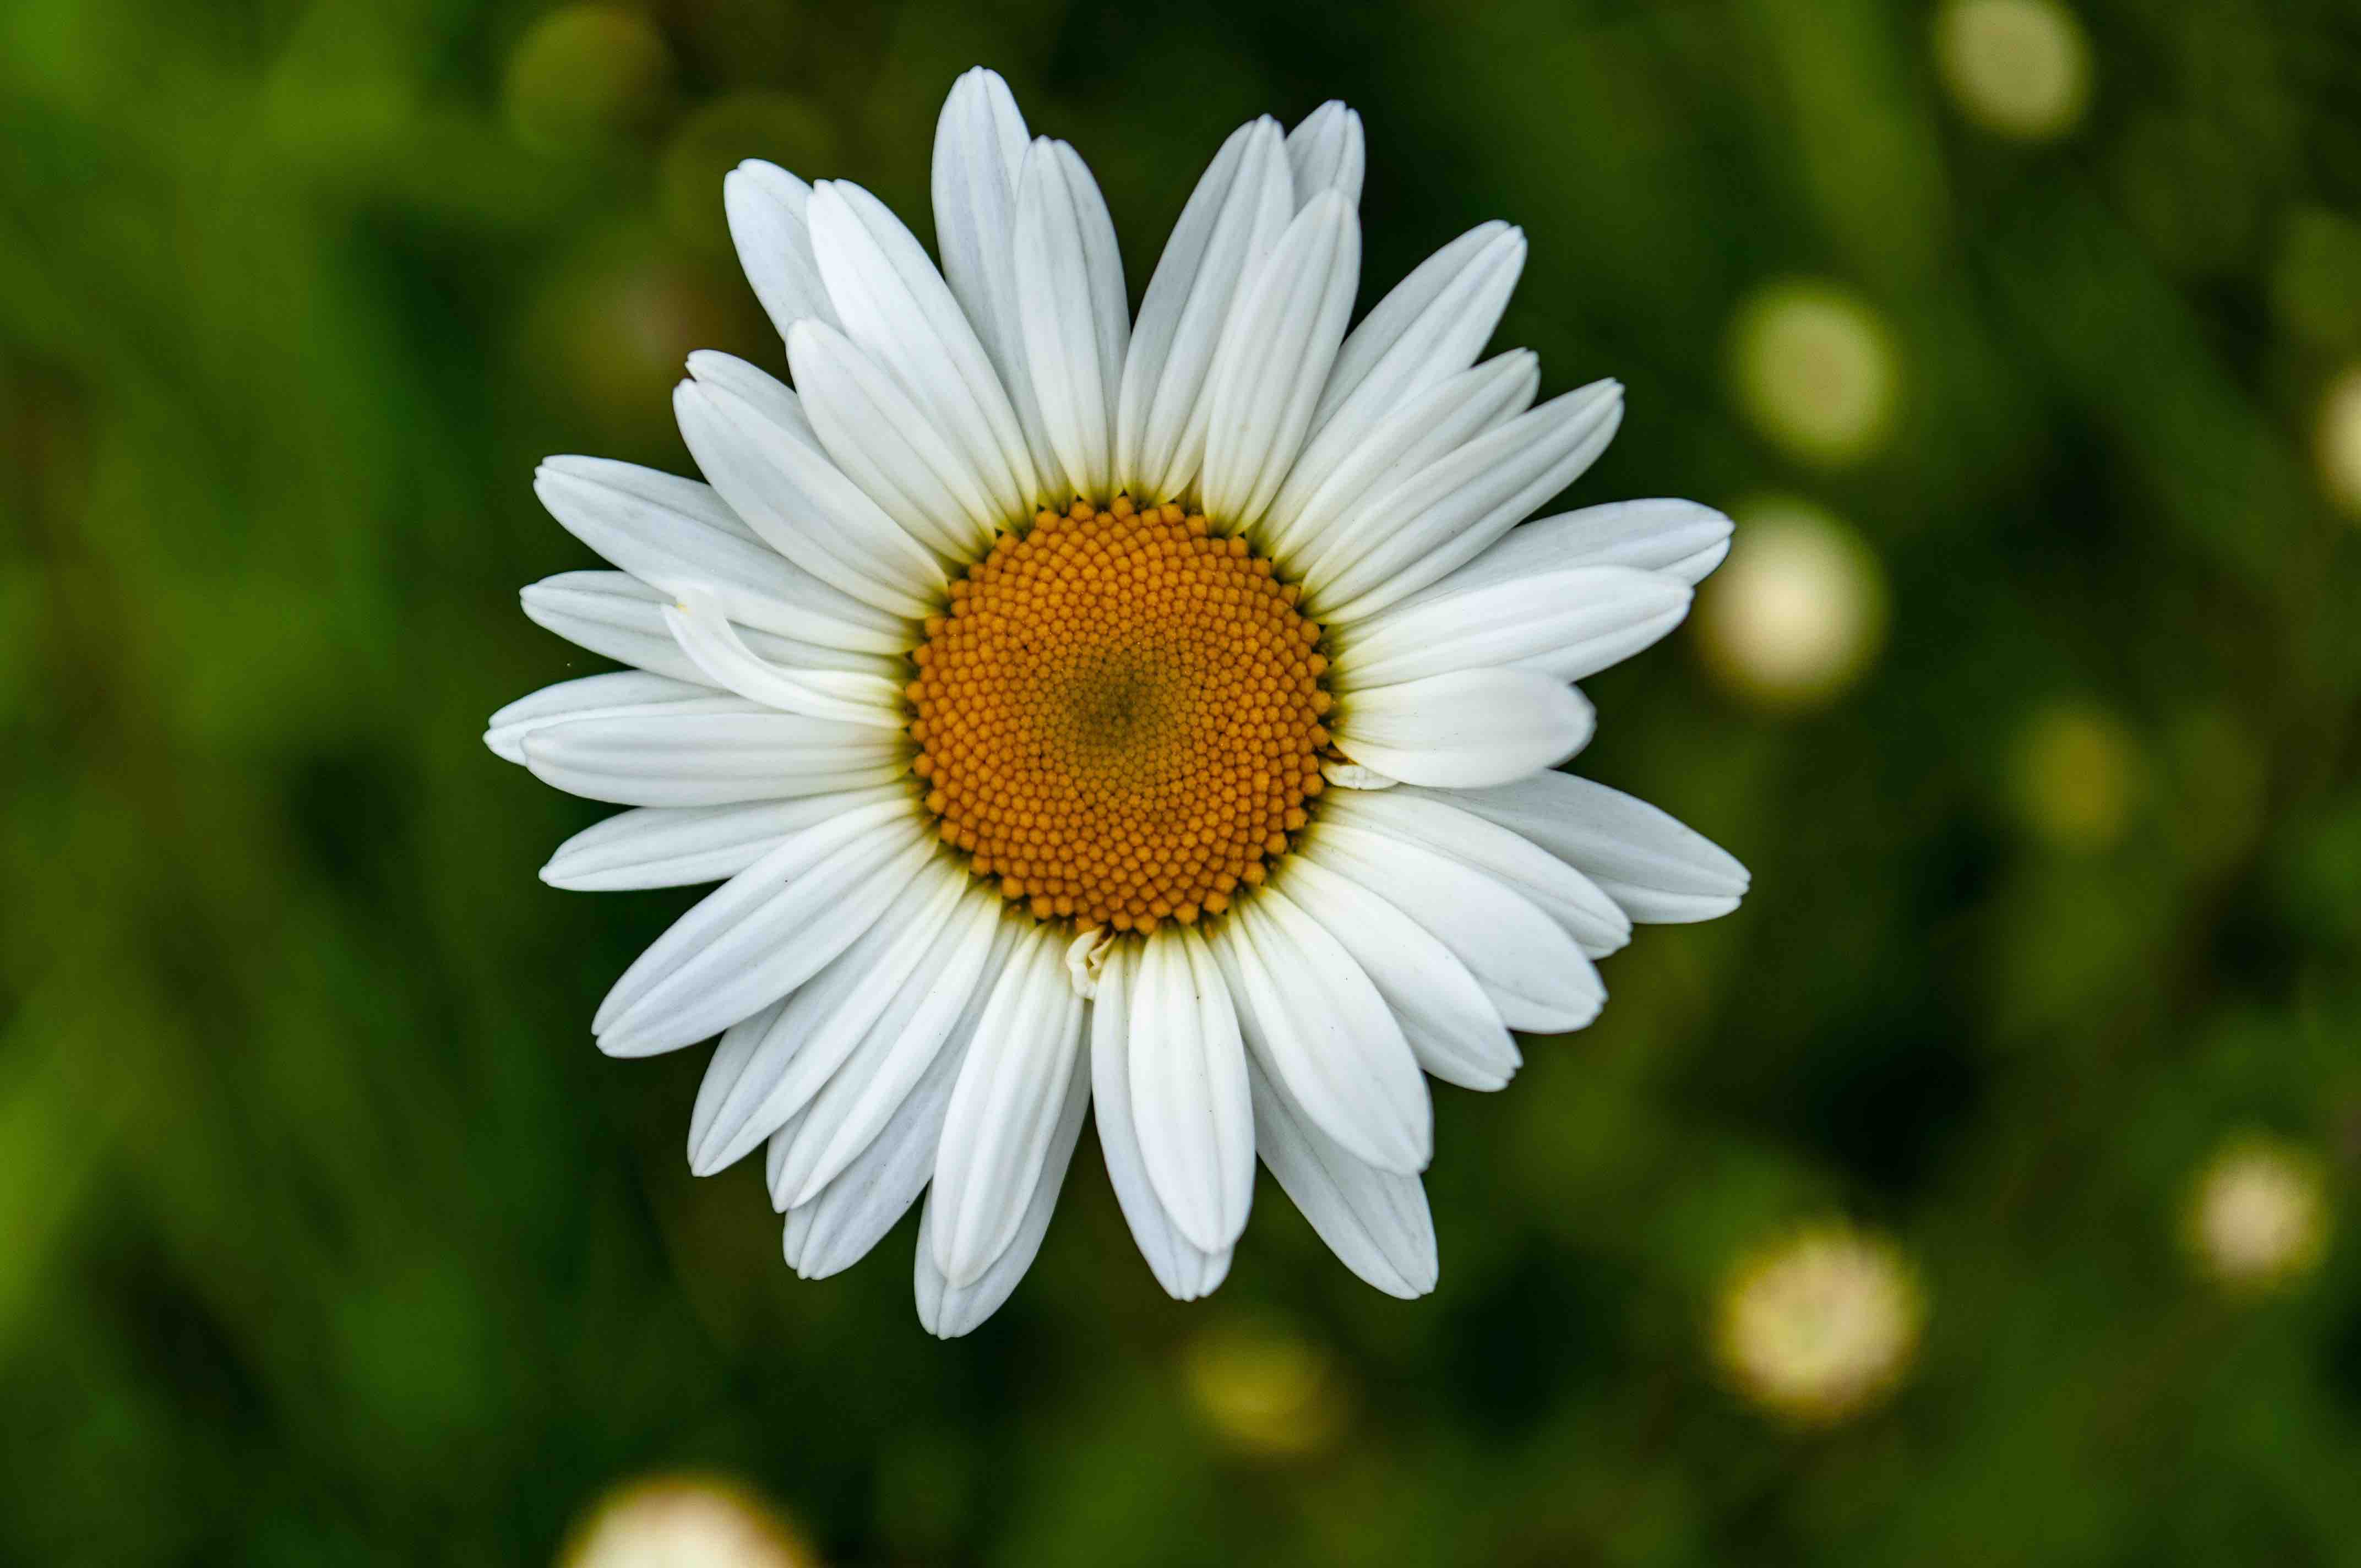
{"label": "narrow white lower-left petal overlapping a shaded petal at seven o'clock", "polygon": [[1003,933],[1013,945],[1013,916],[1003,916],[1001,900],[970,888],[937,933],[916,980],[878,1013],[845,1065],[812,1096],[812,1115],[803,1119],[793,1145],[779,1150],[770,1190],[781,1209],[819,1197],[892,1122],[902,1100],[935,1065],[985,975],[999,973],[994,942]]}

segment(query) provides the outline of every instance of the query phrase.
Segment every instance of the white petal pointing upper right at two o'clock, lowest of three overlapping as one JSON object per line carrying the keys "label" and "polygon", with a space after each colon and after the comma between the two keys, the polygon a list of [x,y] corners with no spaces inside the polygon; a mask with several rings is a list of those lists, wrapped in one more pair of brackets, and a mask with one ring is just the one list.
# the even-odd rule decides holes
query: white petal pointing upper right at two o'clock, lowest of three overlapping
{"label": "white petal pointing upper right at two o'clock, lowest of three overlapping", "polygon": [[[1303,567],[1322,621],[1358,621],[1480,555],[1589,468],[1622,423],[1622,387],[1577,387],[1365,501]],[[725,491],[727,494],[727,491]]]}

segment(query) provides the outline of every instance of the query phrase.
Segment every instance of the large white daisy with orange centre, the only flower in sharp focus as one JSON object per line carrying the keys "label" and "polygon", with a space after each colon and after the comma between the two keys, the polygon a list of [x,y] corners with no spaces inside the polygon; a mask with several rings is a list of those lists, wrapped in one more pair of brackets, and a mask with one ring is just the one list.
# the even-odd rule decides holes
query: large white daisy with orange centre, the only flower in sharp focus
{"label": "large white daisy with orange centre, the only flower in sharp focus", "polygon": [[[1575,680],[1688,612],[1688,501],[1516,527],[1615,435],[1478,364],[1525,260],[1490,222],[1348,331],[1360,116],[1214,156],[1131,319],[1072,146],[970,71],[935,135],[942,267],[869,191],[722,198],[789,387],[692,354],[706,482],[550,458],[619,571],[524,612],[633,666],[491,720],[633,810],[557,888],[722,886],[597,1008],[609,1056],[720,1046],[689,1164],[767,1143],[786,1259],[836,1273],[926,1195],[918,1315],[1008,1299],[1098,1108],[1157,1282],[1221,1285],[1256,1157],[1348,1268],[1435,1282],[1426,1074],[1499,1089],[1580,1030],[1634,921],[1745,869],[1563,772]],[[1513,529],[1513,531],[1511,531]]]}

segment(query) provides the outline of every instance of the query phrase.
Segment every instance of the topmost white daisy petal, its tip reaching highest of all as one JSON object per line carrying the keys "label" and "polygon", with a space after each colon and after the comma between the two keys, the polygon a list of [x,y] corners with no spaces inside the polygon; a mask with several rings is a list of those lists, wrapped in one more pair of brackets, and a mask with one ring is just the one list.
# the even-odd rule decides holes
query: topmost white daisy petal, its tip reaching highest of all
{"label": "topmost white daisy petal, its tip reaching highest of all", "polygon": [[1034,468],[1046,479],[1053,453],[1025,366],[1015,279],[1018,179],[1027,139],[1025,116],[999,71],[975,66],[959,78],[935,120],[935,246],[942,250],[942,281],[1008,387]]}

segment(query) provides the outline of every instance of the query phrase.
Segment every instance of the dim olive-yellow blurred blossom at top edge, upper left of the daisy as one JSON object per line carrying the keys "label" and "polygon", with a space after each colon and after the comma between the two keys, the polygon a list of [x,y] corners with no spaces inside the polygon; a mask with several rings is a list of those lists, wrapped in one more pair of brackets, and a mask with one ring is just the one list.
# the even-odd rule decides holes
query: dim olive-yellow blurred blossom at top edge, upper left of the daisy
{"label": "dim olive-yellow blurred blossom at top edge, upper left of the daisy", "polygon": [[663,33],[623,5],[564,5],[508,57],[503,102],[517,139],[571,153],[645,128],[673,87]]}

